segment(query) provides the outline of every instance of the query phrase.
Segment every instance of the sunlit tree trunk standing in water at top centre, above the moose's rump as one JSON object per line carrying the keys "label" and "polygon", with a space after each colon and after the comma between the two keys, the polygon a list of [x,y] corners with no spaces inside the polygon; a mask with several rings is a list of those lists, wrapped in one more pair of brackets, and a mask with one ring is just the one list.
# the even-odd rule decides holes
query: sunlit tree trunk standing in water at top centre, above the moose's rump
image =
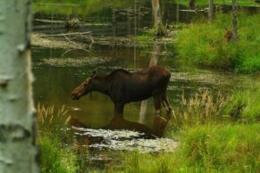
{"label": "sunlit tree trunk standing in water at top centre, above the moose's rump", "polygon": [[154,13],[154,22],[155,22],[155,35],[158,37],[164,36],[165,29],[162,19],[162,13],[160,10],[159,0],[152,0],[153,13]]}

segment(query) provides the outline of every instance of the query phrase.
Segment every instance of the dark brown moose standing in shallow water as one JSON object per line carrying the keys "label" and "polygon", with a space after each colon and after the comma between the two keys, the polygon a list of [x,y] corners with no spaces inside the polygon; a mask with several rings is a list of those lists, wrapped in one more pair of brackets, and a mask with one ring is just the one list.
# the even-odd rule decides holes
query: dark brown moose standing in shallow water
{"label": "dark brown moose standing in shallow water", "polygon": [[130,72],[123,69],[113,70],[106,76],[97,76],[96,70],[71,94],[72,100],[97,91],[108,95],[114,103],[114,117],[123,116],[126,103],[146,100],[153,96],[156,115],[161,114],[161,104],[171,119],[172,107],[168,102],[166,91],[171,74],[162,66],[152,66],[148,69]]}

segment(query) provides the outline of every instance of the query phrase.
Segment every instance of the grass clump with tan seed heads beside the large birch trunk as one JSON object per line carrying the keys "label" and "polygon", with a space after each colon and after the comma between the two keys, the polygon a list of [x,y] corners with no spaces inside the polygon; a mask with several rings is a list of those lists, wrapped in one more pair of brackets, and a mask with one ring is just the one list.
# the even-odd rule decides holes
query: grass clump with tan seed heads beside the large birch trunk
{"label": "grass clump with tan seed heads beside the large birch trunk", "polygon": [[64,108],[38,104],[38,144],[41,148],[40,168],[42,173],[75,173],[78,167],[77,155],[65,146],[61,128],[64,126]]}

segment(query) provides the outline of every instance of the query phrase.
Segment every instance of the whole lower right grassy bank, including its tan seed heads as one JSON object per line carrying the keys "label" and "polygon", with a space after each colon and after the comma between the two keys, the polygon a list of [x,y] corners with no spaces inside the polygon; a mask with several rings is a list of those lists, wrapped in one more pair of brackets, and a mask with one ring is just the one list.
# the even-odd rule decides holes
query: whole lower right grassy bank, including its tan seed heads
{"label": "whole lower right grassy bank, including its tan seed heads", "polygon": [[[187,100],[183,98],[166,133],[179,141],[176,152],[126,152],[120,163],[89,172],[257,172],[260,169],[258,97],[260,90],[256,89],[236,91],[229,96],[212,95],[205,90]],[[244,106],[240,115],[233,117],[231,110],[237,108],[237,103]]]}

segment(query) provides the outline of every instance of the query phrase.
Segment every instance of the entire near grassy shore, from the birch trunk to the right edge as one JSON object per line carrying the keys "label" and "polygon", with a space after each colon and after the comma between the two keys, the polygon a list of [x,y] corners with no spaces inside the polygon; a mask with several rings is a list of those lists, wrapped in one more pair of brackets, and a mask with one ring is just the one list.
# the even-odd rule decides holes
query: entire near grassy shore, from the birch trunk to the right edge
{"label": "entire near grassy shore, from the birch trunk to the right edge", "polygon": [[[123,152],[118,161],[99,168],[85,161],[88,172],[257,172],[260,169],[260,87],[213,95],[191,95],[175,107],[166,137],[179,142],[175,152]],[[64,109],[38,105],[42,172],[74,173],[80,159],[64,145],[59,125]],[[67,134],[68,135],[68,134]],[[70,136],[69,136],[70,137]]]}

